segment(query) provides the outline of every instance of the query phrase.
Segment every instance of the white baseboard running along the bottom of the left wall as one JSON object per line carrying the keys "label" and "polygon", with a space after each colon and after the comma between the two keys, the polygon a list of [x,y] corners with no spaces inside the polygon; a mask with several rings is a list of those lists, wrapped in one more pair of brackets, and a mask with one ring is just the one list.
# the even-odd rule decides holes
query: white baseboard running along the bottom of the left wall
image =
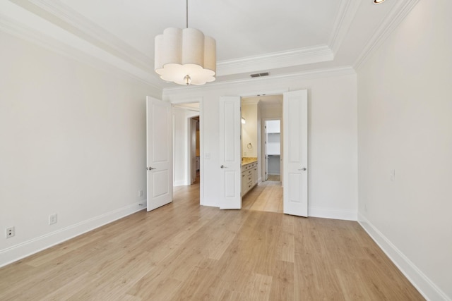
{"label": "white baseboard running along the bottom of the left wall", "polygon": [[81,221],[80,223],[59,229],[52,233],[47,233],[40,237],[33,238],[32,240],[22,242],[18,245],[13,245],[12,247],[8,247],[4,250],[0,250],[0,267],[45,250],[59,244],[60,242],[64,242],[65,240],[75,238],[78,235],[92,231],[93,229],[104,226],[107,223],[112,223],[112,221],[116,221],[124,216],[128,216],[145,208],[146,202],[144,200],[136,204],[131,204],[126,207],[109,211],[100,216],[95,216],[93,219]]}

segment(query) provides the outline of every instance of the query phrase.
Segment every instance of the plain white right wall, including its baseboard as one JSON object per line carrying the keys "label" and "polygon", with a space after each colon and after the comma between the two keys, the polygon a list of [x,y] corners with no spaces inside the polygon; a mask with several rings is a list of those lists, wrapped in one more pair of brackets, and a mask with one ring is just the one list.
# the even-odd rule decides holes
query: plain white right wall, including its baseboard
{"label": "plain white right wall, including its baseboard", "polygon": [[358,70],[359,220],[430,300],[452,298],[451,11],[420,1]]}

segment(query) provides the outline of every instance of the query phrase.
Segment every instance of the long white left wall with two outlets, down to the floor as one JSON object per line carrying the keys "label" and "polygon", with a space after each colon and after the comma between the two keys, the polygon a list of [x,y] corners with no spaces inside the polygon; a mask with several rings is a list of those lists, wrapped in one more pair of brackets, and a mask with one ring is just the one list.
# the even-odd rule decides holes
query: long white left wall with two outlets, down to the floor
{"label": "long white left wall with two outlets, down to the floor", "polygon": [[143,208],[145,97],[161,95],[3,32],[0,43],[1,266]]}

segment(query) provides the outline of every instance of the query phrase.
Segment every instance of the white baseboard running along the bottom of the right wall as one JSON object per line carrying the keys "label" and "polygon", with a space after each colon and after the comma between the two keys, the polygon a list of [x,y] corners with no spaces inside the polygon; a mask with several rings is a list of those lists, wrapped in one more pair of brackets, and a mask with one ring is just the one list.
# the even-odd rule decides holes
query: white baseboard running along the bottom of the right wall
{"label": "white baseboard running along the bottom of the right wall", "polygon": [[438,288],[420,269],[413,264],[398,248],[393,245],[374,225],[372,225],[362,214],[358,214],[358,223],[370,235],[377,245],[388,255],[389,259],[396,264],[398,269],[408,278],[412,285],[427,300],[451,301],[440,288]]}

